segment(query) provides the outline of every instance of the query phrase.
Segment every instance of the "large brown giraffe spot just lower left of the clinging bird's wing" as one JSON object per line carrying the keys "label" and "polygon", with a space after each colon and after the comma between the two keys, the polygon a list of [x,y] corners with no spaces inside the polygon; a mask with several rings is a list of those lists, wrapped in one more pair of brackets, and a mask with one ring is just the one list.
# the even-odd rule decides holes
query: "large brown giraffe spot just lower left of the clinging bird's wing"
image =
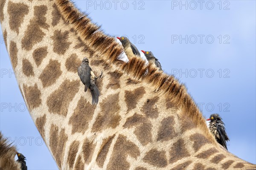
{"label": "large brown giraffe spot just lower left of the clinging bird's wing", "polygon": [[67,108],[79,90],[79,80],[64,80],[60,87],[47,98],[48,111],[67,116]]}

